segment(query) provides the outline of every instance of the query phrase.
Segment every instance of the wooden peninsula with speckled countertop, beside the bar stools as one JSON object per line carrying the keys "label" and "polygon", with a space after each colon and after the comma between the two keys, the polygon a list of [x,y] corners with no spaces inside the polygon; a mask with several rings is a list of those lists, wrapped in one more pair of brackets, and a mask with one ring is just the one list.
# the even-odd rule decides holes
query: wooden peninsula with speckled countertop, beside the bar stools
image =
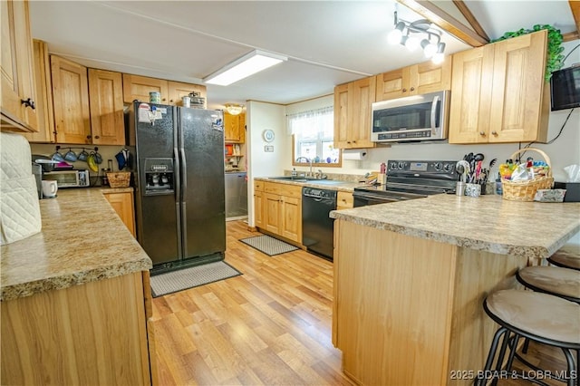
{"label": "wooden peninsula with speckled countertop, beside the bar stools", "polygon": [[[436,195],[331,212],[333,344],[362,385],[469,384],[496,324],[482,303],[580,230],[580,203]],[[453,379],[455,378],[455,379]]]}

